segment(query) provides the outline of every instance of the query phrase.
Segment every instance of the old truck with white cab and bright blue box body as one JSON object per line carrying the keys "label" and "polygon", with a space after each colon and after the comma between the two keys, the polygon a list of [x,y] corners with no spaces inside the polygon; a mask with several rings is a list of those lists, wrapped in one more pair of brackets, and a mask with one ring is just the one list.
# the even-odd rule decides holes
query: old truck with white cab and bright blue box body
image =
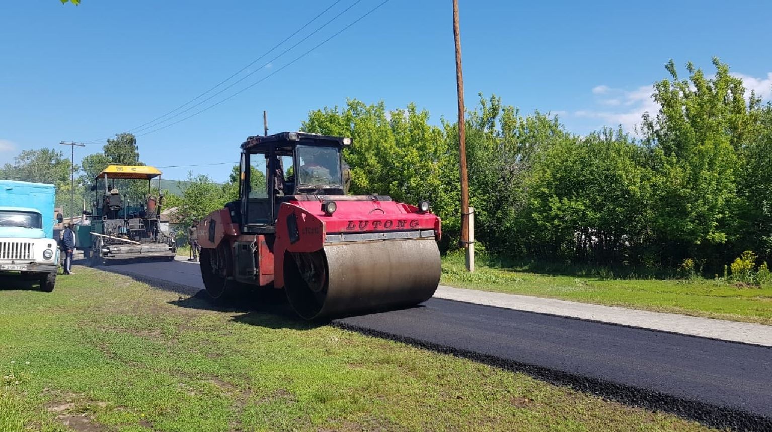
{"label": "old truck with white cab and bright blue box body", "polygon": [[0,180],[0,276],[39,281],[53,291],[59,267],[59,241],[53,226],[56,186]]}

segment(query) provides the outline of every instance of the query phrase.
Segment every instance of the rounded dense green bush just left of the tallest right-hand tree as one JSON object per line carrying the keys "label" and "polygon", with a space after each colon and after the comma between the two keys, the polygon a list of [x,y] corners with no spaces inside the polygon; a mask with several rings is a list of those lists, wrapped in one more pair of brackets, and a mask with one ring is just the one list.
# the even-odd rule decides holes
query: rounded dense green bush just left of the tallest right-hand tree
{"label": "rounded dense green bush just left of the tallest right-hand tree", "polygon": [[531,253],[602,264],[645,235],[652,173],[622,131],[604,129],[544,149],[525,182]]}

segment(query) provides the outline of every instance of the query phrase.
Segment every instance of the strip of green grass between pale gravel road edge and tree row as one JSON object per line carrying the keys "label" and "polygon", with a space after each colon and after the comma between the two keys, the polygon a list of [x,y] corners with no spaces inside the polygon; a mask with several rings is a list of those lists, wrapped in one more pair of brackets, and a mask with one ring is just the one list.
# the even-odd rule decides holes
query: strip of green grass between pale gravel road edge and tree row
{"label": "strip of green grass between pale gravel road edge and tree row", "polygon": [[528,271],[527,267],[498,267],[496,263],[486,262],[485,257],[470,274],[459,254],[443,258],[441,283],[772,325],[772,286],[736,286],[706,279],[615,279],[536,273]]}

